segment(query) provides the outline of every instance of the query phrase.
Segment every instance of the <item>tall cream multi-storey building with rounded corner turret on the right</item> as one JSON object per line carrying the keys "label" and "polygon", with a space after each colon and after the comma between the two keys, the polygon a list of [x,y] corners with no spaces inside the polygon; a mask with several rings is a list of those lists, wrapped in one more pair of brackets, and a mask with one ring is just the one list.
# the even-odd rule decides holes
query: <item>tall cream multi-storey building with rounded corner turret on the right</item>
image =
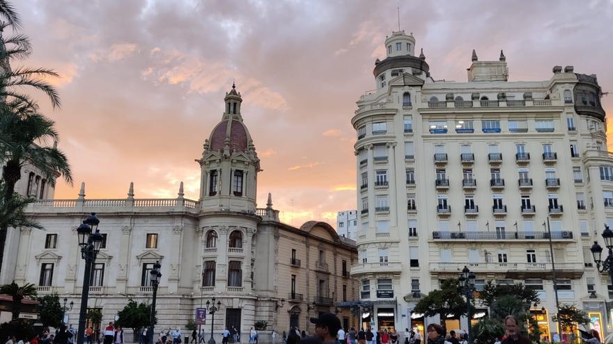
{"label": "tall cream multi-storey building with rounded corner turret on the right", "polygon": [[[613,154],[596,76],[556,66],[547,81],[511,82],[502,51],[494,61],[473,51],[467,82],[438,81],[423,49],[414,55],[412,35],[392,33],[385,49],[375,90],[359,98],[351,121],[351,275],[371,306],[364,322],[423,331],[439,319],[412,313],[414,305],[467,266],[477,288],[493,280],[538,290],[531,312],[552,336],[553,258],[560,304],[589,312],[608,335],[612,287],[589,252],[613,224]],[[473,321],[488,310],[475,313]],[[449,318],[447,329],[467,329],[467,319]]]}

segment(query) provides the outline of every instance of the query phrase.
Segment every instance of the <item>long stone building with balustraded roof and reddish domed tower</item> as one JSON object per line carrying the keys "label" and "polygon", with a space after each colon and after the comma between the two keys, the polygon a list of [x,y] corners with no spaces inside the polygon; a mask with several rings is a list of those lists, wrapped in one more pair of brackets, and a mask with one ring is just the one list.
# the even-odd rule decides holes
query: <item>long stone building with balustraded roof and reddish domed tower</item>
{"label": "long stone building with balustraded roof and reddish domed tower", "polygon": [[[104,243],[88,308],[102,309],[103,323],[114,320],[129,298],[150,302],[148,272],[160,261],[157,329],[184,328],[213,297],[222,302],[215,314],[218,340],[224,326],[247,335],[259,321],[267,322],[263,339],[290,325],[313,331],[309,317],[322,311],[336,311],[354,326],[357,282],[349,268],[357,263],[355,241],[324,222],[300,228],[280,222],[270,194],[265,208],[256,207],[260,159],[242,120],[242,97],[232,88],[225,104],[198,160],[199,200],[185,199],[183,183],[173,199],[139,199],[133,185],[127,197],[88,199],[83,185],[77,199],[39,200],[27,213],[45,231],[10,231],[7,252],[16,261],[3,269],[8,278],[36,284],[40,294],[67,295],[75,302],[68,313],[76,325],[84,261],[75,229],[95,212]],[[210,322],[208,316],[208,335]]]}

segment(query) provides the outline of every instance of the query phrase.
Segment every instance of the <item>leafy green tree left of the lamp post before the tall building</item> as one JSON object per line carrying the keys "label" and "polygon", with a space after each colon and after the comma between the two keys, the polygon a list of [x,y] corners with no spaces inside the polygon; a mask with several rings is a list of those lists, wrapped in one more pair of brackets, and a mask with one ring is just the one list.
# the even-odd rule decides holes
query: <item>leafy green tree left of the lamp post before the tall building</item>
{"label": "leafy green tree left of the lamp post before the tall building", "polygon": [[445,327],[447,316],[463,316],[466,314],[466,302],[461,293],[458,279],[446,279],[439,289],[430,291],[422,297],[415,308],[416,313],[423,313],[424,316],[440,315],[442,327]]}

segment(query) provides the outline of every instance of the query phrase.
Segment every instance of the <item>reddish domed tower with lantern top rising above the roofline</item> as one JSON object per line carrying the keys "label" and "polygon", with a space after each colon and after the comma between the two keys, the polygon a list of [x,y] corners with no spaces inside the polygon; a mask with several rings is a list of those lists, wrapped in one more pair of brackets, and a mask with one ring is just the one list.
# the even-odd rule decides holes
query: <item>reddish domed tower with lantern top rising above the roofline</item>
{"label": "reddish domed tower with lantern top rising above the roofline", "polygon": [[202,210],[254,213],[260,159],[242,122],[242,97],[234,84],[224,101],[222,121],[205,140],[202,158],[196,160],[201,166]]}

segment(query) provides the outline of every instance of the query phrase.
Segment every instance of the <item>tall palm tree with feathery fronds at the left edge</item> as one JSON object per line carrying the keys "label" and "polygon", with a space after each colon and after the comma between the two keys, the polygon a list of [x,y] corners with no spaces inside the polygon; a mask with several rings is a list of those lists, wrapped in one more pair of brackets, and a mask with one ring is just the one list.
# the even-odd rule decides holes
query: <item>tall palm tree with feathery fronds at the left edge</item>
{"label": "tall palm tree with feathery fronds at the left edge", "polygon": [[[31,44],[26,35],[17,33],[3,38],[3,29],[13,31],[21,28],[18,13],[6,0],[0,0],[0,161],[3,161],[2,179],[6,183],[4,202],[10,204],[15,197],[15,183],[21,178],[24,164],[32,165],[45,174],[49,182],[62,176],[72,183],[70,166],[65,155],[56,147],[40,145],[58,135],[54,122],[38,112],[35,101],[22,90],[40,90],[59,108],[61,101],[56,89],[45,78],[58,76],[52,69],[20,67],[10,68],[10,60],[22,59],[31,53]],[[3,267],[4,246],[8,225],[0,225],[0,270]]]}

